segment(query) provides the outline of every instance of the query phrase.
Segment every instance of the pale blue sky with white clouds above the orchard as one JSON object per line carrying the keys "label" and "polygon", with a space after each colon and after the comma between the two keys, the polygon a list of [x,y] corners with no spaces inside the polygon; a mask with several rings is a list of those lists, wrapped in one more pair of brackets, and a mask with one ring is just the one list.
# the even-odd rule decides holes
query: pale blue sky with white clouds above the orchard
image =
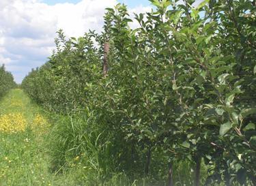
{"label": "pale blue sky with white clouds above the orchard", "polygon": [[117,3],[130,12],[152,8],[147,0],[0,0],[0,65],[20,83],[31,68],[47,61],[58,29],[69,37],[100,31],[104,9]]}

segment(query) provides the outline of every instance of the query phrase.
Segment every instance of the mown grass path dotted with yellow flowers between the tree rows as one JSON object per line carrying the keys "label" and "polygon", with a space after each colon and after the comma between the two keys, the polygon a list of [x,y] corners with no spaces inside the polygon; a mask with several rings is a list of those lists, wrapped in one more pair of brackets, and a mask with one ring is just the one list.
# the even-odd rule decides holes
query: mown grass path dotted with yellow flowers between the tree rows
{"label": "mown grass path dotted with yellow flowers between the tree rows", "polygon": [[40,108],[21,89],[1,99],[1,186],[62,185],[50,170],[45,142],[49,126]]}

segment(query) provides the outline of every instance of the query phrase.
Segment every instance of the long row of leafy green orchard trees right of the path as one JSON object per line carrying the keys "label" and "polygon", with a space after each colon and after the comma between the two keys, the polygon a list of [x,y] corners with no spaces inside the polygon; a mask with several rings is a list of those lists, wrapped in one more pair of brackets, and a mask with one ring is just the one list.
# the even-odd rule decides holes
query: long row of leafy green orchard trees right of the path
{"label": "long row of leafy green orchard trees right of the path", "polygon": [[[151,1],[137,29],[117,5],[101,34],[59,31],[57,50],[23,81],[36,102],[76,118],[57,129],[57,168],[87,151],[101,175],[256,185],[255,1]],[[194,179],[179,179],[184,164]]]}

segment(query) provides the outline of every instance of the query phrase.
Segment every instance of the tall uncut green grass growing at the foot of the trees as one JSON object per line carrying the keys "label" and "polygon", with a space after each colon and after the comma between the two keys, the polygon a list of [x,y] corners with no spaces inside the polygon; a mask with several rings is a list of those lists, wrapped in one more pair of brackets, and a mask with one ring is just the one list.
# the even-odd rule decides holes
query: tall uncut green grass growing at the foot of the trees
{"label": "tall uncut green grass growing at the foot of the trees", "polygon": [[[102,186],[162,186],[167,183],[167,159],[161,159],[157,150],[152,152],[152,174],[130,174],[120,170],[113,151],[112,134],[104,131],[93,112],[76,115],[49,114],[53,128],[47,143],[51,156],[51,171],[57,176],[66,176],[72,185]],[[97,124],[97,125],[96,125]],[[159,163],[162,161],[162,164]],[[139,163],[138,163],[139,164]],[[122,166],[122,165],[120,165]],[[173,165],[175,185],[193,185],[194,164],[189,161]],[[135,168],[136,169],[136,168]],[[136,171],[136,170],[135,170]],[[201,181],[207,176],[202,166]]]}

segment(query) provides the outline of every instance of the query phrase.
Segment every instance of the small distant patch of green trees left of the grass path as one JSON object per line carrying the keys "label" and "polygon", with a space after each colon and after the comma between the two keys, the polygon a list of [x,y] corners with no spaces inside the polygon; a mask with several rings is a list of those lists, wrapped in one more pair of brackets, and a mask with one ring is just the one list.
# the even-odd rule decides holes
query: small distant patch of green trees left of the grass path
{"label": "small distant patch of green trees left of the grass path", "polygon": [[5,66],[0,67],[0,97],[3,97],[5,93],[8,93],[10,89],[14,88],[16,83],[14,82],[14,77],[10,72],[5,70]]}

